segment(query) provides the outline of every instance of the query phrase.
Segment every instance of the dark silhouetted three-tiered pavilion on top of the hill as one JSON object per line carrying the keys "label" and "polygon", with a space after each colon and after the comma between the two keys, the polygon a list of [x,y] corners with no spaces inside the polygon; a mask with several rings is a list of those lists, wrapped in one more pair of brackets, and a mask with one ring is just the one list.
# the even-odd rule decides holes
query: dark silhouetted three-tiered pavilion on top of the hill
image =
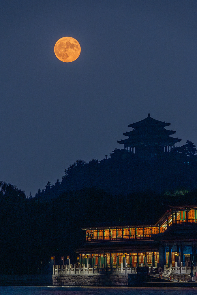
{"label": "dark silhouetted three-tiered pavilion on top of the hill", "polygon": [[166,126],[170,126],[170,123],[155,120],[148,114],[146,119],[128,124],[133,130],[123,133],[128,138],[118,140],[118,143],[123,144],[124,148],[132,153],[135,148],[135,154],[139,156],[162,155],[175,147],[176,142],[181,141],[180,138],[170,137],[176,131],[166,130]]}

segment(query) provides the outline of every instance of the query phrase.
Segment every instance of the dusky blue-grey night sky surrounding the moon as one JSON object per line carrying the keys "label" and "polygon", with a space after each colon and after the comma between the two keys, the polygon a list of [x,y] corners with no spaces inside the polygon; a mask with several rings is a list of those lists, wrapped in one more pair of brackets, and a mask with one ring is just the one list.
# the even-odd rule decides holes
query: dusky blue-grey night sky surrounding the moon
{"label": "dusky blue-grey night sky surrounding the moon", "polygon": [[197,145],[197,1],[3,0],[0,22],[0,181],[35,196],[148,113]]}

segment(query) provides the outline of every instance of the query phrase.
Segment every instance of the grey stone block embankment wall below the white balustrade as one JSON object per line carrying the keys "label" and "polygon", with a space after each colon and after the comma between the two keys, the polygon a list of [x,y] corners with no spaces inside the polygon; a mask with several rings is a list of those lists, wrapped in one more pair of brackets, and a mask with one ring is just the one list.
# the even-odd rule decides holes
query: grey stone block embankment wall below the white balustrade
{"label": "grey stone block embankment wall below the white balustrade", "polygon": [[128,276],[123,274],[53,275],[53,286],[128,286]]}

